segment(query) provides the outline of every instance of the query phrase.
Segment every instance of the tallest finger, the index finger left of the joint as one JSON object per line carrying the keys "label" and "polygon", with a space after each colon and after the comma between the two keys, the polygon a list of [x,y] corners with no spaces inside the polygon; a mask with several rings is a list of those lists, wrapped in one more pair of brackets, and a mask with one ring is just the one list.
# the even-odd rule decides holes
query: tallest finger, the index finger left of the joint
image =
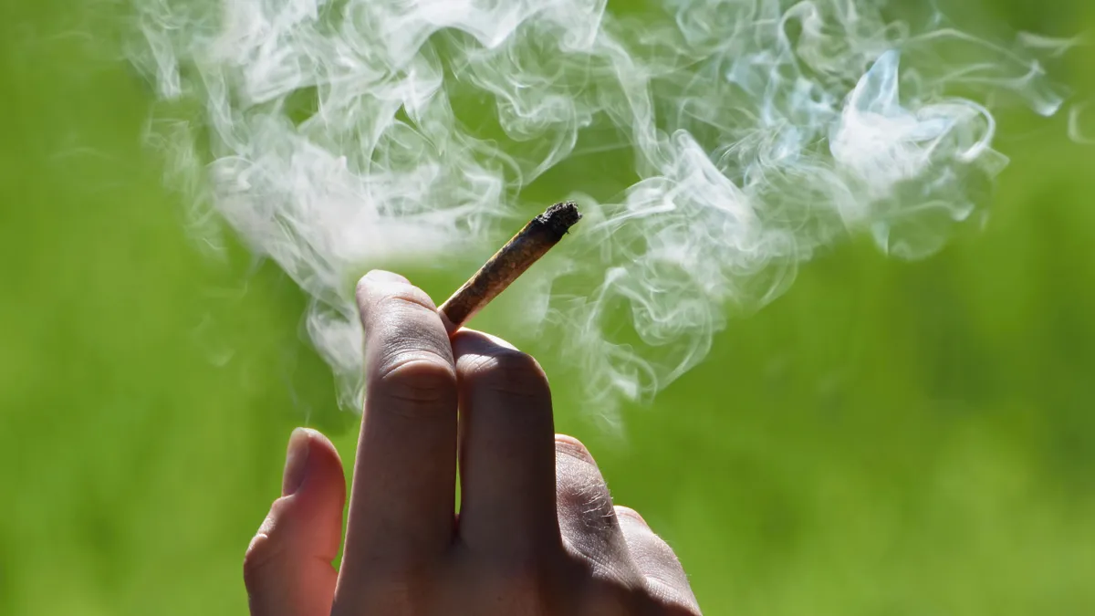
{"label": "tallest finger, the index finger left of the joint", "polygon": [[415,567],[452,538],[457,377],[445,326],[406,278],[372,272],[357,287],[366,402],[342,575]]}

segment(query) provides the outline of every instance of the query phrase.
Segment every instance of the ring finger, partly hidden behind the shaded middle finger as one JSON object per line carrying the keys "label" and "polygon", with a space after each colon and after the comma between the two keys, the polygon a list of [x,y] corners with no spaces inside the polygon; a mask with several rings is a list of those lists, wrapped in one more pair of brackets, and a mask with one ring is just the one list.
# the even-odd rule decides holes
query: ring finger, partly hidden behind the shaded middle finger
{"label": "ring finger, partly hidden behind the shaded middle finger", "polygon": [[555,437],[555,492],[558,524],[566,547],[584,557],[593,575],[631,580],[637,572],[627,555],[604,478],[585,445]]}

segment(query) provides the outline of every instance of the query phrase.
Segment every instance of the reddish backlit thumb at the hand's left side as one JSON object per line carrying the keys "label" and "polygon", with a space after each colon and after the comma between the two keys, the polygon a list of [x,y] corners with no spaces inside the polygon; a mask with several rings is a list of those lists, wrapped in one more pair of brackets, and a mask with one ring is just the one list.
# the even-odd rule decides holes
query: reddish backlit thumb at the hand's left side
{"label": "reddish backlit thumb at the hand's left side", "polygon": [[243,581],[252,616],[326,616],[342,538],[346,479],[338,452],[314,430],[289,438],[281,498],[251,540]]}

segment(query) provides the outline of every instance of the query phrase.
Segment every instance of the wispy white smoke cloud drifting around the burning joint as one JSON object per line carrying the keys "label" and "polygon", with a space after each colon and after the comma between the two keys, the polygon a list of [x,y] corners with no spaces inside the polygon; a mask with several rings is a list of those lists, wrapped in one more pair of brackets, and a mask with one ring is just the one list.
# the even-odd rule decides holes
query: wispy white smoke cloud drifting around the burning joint
{"label": "wispy white smoke cloud drifting around the burning joint", "polygon": [[990,110],[1061,106],[1039,58],[1071,42],[1003,45],[887,11],[149,0],[130,58],[160,98],[200,110],[151,132],[195,232],[215,246],[209,223],[227,221],[312,297],[308,332],[349,407],[354,275],[481,259],[545,205],[523,199],[539,178],[619,161],[613,194],[598,173],[554,180],[586,220],[522,281],[521,310],[565,336],[558,352],[610,408],[702,361],[728,309],[779,296],[819,250],[856,233],[902,259],[940,249],[1007,163]]}

